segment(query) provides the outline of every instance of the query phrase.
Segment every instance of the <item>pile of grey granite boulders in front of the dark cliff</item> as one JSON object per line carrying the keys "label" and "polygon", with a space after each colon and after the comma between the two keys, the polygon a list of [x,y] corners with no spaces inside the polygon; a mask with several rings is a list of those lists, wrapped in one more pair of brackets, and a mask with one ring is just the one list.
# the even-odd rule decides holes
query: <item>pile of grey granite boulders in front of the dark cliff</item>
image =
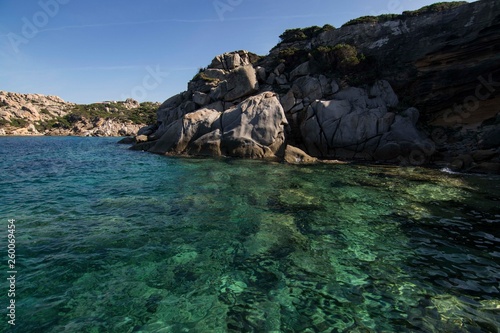
{"label": "pile of grey granite boulders in front of the dark cliff", "polygon": [[[216,68],[200,72],[188,91],[165,101],[157,112],[158,128],[144,129],[148,141],[137,142],[134,149],[278,158],[289,163],[315,163],[317,158],[428,160],[430,154],[421,147],[430,143],[416,128],[418,111],[390,112],[399,99],[387,81],[368,89],[341,89],[335,78],[307,73],[310,67],[304,64],[292,75],[284,64],[263,71],[264,67],[246,61],[228,60],[239,59],[241,53],[248,54],[216,57],[212,61]],[[221,59],[226,59],[224,64]],[[237,99],[227,89],[235,77],[240,80]],[[241,97],[256,89],[259,94]],[[266,92],[285,89],[281,96]]]}

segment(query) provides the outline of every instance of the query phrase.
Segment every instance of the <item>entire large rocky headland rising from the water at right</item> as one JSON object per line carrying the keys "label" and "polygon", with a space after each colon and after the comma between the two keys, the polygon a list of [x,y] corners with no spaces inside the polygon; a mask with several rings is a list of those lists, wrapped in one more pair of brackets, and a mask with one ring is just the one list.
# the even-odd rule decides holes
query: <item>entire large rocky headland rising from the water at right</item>
{"label": "entire large rocky headland rising from the water at right", "polygon": [[[499,36],[496,0],[288,30],[266,57],[216,57],[159,108],[136,148],[290,160],[283,154],[297,149],[283,147],[294,145],[320,159],[499,172]],[[219,150],[223,120],[235,114],[236,148]],[[247,129],[261,117],[277,123]],[[267,130],[274,141],[264,146],[279,148],[262,153]]]}

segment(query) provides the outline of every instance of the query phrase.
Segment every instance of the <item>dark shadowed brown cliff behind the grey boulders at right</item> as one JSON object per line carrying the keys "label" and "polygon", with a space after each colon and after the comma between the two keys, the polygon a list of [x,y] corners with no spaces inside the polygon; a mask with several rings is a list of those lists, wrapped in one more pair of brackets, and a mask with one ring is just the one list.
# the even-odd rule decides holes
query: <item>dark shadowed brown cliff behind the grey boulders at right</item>
{"label": "dark shadowed brown cliff behind the grey boulders at right", "polygon": [[[361,75],[354,68],[348,76],[387,80],[405,107],[419,110],[417,125],[432,140],[424,148],[426,155],[432,155],[431,161],[455,170],[479,170],[480,162],[462,164],[456,160],[485,147],[492,151],[490,156],[499,152],[489,133],[500,129],[500,2],[481,0],[432,10],[438,7],[392,18],[356,20],[357,24],[330,29],[313,38],[280,43],[271,55],[280,57],[295,49],[314,58],[318,50],[352,45],[363,54],[367,66],[358,66],[364,71]],[[322,59],[317,56],[314,61],[317,64]],[[290,69],[291,77],[307,70],[309,75],[320,73],[323,68],[314,68],[314,61]],[[489,161],[499,162],[496,157]],[[459,165],[463,167],[457,168]]]}

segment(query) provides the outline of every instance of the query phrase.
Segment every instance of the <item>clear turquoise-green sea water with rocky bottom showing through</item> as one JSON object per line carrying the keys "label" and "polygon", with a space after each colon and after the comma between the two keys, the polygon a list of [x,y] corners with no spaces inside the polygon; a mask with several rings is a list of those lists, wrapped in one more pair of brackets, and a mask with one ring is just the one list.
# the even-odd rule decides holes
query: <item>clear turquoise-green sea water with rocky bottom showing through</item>
{"label": "clear turquoise-green sea water with rocky bottom showing through", "polygon": [[0,331],[499,331],[499,177],[116,141],[0,138]]}

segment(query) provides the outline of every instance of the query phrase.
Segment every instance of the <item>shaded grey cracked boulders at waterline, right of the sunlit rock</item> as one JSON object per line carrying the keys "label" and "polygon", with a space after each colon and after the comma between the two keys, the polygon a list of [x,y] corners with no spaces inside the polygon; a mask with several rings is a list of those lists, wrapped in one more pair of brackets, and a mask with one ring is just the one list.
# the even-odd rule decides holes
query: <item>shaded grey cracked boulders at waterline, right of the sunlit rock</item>
{"label": "shaded grey cracked boulders at waterline, right of the sunlit rock", "polygon": [[[370,89],[347,88],[333,100],[312,103],[301,133],[307,153],[323,158],[397,161],[427,159],[432,143],[415,127],[418,110],[395,115],[397,96],[386,81]],[[418,162],[417,162],[418,160]]]}

